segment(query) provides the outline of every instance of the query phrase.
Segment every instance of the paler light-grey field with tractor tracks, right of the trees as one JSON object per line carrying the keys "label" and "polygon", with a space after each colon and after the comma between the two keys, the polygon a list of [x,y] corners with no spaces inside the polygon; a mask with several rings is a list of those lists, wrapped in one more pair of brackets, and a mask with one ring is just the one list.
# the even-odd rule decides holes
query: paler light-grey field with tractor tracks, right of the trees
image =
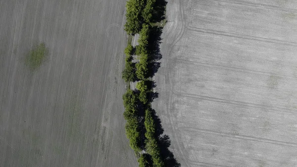
{"label": "paler light-grey field with tractor tracks, right of the trees", "polygon": [[182,167],[297,166],[297,1],[168,0],[153,108]]}

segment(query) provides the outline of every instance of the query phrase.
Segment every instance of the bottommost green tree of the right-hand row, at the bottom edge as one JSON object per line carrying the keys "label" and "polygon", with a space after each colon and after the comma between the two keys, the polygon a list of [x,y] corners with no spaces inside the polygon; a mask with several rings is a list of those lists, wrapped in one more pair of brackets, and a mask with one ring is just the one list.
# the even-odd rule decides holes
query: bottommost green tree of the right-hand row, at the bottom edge
{"label": "bottommost green tree of the right-hand row, at the bottom edge", "polygon": [[156,139],[152,138],[147,141],[147,152],[151,155],[153,167],[164,167],[164,162],[161,159],[160,148],[157,144]]}

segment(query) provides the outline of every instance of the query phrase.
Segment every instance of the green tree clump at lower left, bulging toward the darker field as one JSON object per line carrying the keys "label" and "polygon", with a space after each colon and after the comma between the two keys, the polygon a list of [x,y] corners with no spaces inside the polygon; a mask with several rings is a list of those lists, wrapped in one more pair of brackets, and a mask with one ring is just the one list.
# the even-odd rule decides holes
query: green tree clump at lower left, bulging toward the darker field
{"label": "green tree clump at lower left, bulging toward the darker field", "polygon": [[140,124],[137,118],[131,118],[127,120],[126,126],[126,135],[130,142],[130,147],[139,152],[140,149]]}

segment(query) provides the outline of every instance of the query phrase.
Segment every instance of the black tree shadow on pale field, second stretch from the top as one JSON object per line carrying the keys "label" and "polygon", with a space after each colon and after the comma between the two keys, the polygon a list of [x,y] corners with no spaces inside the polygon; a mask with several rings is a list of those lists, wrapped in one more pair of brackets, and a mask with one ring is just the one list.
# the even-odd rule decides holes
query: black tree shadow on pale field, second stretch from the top
{"label": "black tree shadow on pale field, second stretch from the top", "polygon": [[160,51],[161,44],[161,34],[162,27],[153,26],[150,29],[149,39],[148,39],[148,52],[149,52],[149,63],[148,63],[148,77],[154,76],[154,74],[160,68],[160,60],[162,58],[162,54]]}

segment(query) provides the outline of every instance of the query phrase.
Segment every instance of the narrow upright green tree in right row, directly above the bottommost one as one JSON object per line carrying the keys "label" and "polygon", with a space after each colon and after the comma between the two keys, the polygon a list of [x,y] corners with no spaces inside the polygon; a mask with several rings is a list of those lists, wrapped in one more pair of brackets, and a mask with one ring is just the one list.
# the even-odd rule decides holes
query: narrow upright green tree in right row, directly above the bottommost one
{"label": "narrow upright green tree in right row, directly above the bottommost one", "polygon": [[145,136],[148,140],[151,140],[152,138],[154,138],[154,135],[155,135],[155,124],[152,118],[152,112],[149,109],[146,110],[145,127],[146,127]]}

